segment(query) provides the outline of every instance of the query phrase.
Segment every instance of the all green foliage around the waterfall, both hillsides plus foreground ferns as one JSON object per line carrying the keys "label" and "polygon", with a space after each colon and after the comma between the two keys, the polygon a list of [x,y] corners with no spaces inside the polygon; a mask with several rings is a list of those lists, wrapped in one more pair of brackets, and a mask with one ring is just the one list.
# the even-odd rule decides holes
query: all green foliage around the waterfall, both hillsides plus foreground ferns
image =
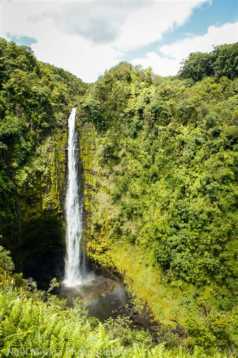
{"label": "all green foliage around the waterfall, both hillsides plus foreground ferns", "polygon": [[18,269],[36,253],[64,250],[65,121],[78,104],[83,163],[87,140],[94,146],[84,174],[89,257],[111,267],[113,247],[123,266],[129,251],[139,291],[149,269],[166,287],[161,294],[155,281],[152,301],[166,301],[168,288],[186,301],[186,319],[176,317],[185,336],[154,347],[124,320],[102,324],[80,302],[69,309],[33,283],[29,291],[0,247],[2,354],[42,347],[180,358],[180,343],[187,356],[235,354],[237,54],[237,43],[190,54],[169,78],[122,62],[86,85],[1,39],[0,245]]}

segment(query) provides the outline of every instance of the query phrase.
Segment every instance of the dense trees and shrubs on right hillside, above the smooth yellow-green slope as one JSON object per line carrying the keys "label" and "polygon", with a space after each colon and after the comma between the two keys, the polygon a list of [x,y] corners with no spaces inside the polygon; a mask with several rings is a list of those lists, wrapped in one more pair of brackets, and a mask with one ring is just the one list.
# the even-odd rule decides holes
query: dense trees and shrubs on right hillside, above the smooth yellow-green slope
{"label": "dense trees and shrubs on right hillside, above the smooth yellow-green slope", "polygon": [[[236,53],[237,66],[237,44],[211,55],[217,51],[229,59]],[[232,294],[238,82],[228,78],[232,63],[228,77],[218,67],[218,80],[194,83],[188,68],[196,56],[179,78],[121,63],[93,85],[86,111],[101,135],[99,161],[116,207],[113,240],[149,248],[168,281],[198,289],[215,281]],[[232,300],[222,309],[229,306]]]}

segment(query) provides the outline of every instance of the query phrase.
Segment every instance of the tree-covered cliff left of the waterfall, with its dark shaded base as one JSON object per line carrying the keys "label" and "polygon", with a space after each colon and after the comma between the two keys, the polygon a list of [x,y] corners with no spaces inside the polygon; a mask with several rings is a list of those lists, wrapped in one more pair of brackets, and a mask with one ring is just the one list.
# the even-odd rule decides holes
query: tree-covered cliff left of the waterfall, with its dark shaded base
{"label": "tree-covered cliff left of the waterfall, with its dark shaded base", "polygon": [[0,57],[0,234],[21,268],[64,250],[65,121],[86,86],[26,46],[1,39]]}

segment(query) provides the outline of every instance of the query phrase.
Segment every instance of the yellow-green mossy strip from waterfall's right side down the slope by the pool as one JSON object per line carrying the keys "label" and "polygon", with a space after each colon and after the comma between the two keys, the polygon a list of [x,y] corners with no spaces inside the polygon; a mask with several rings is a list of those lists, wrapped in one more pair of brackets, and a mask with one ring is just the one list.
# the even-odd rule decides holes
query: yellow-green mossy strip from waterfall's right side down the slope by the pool
{"label": "yellow-green mossy strip from waterfall's right side down the slope by the pool", "polygon": [[193,289],[186,286],[185,298],[184,287],[170,287],[162,281],[150,252],[113,239],[114,218],[118,212],[108,195],[110,178],[101,171],[99,164],[101,138],[92,125],[80,122],[80,118],[78,125],[84,173],[87,256],[102,271],[123,277],[128,292],[147,303],[158,321],[173,328],[183,324],[185,312],[194,306]]}

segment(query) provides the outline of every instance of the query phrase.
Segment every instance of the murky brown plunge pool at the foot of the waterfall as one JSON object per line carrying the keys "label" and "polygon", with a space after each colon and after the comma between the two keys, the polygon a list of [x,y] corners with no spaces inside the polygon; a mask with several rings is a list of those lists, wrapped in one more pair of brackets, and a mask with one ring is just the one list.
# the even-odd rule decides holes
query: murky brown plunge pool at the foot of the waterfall
{"label": "murky brown plunge pool at the foot of the waterfall", "polygon": [[86,304],[88,316],[101,321],[120,314],[118,308],[128,302],[126,291],[122,285],[102,274],[89,273],[81,284],[76,287],[66,287],[60,284],[56,294],[59,298],[67,299],[68,305],[73,305],[73,299],[79,297]]}

